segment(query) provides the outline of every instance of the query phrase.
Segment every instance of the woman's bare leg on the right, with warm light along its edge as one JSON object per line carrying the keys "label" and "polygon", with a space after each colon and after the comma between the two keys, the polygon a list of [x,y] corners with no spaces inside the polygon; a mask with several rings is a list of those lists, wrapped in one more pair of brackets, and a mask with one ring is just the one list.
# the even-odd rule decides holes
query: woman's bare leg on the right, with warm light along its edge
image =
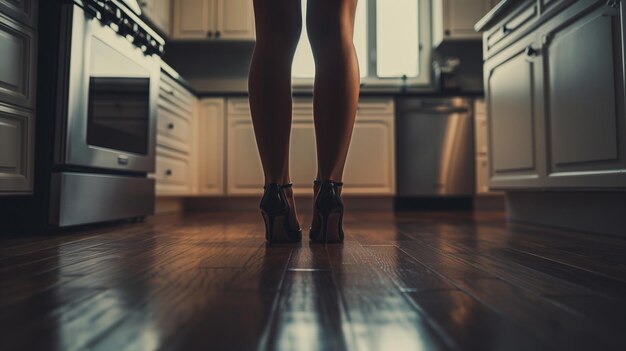
{"label": "woman's bare leg on the right, with warm light along its edge", "polygon": [[315,58],[317,178],[341,181],[359,98],[353,44],[357,0],[309,0],[307,31]]}

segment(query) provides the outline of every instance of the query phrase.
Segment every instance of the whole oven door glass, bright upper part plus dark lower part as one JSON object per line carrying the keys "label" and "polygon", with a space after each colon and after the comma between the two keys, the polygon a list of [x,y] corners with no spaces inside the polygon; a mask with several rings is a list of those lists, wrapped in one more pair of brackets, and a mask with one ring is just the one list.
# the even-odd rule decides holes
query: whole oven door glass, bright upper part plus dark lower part
{"label": "whole oven door glass, bright upper part plus dark lower part", "polygon": [[[129,45],[129,50],[135,50]],[[87,143],[147,155],[150,72],[123,51],[92,37]]]}

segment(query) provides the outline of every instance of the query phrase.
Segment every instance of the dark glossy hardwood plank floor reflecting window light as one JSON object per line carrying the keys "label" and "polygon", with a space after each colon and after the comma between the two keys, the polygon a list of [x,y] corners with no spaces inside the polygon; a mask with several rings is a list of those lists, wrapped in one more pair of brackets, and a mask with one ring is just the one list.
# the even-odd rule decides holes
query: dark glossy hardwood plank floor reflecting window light
{"label": "dark glossy hardwood plank floor reflecting window light", "polygon": [[626,350],[625,238],[501,212],[345,222],[328,247],[268,248],[250,212],[4,237],[0,349]]}

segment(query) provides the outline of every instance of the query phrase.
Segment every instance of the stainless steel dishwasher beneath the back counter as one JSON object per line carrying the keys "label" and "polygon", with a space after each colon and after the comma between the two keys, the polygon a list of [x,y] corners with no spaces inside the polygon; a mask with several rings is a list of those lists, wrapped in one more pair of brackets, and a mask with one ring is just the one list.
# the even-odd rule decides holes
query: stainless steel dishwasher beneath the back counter
{"label": "stainless steel dishwasher beneath the back counter", "polygon": [[465,98],[398,99],[398,197],[474,195],[471,102]]}

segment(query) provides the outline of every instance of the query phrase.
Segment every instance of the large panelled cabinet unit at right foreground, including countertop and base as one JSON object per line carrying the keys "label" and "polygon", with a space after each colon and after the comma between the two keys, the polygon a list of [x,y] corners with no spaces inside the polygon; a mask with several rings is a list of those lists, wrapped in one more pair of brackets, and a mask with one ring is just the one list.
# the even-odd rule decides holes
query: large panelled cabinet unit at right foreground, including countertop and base
{"label": "large panelled cabinet unit at right foreground, including countertop and base", "polygon": [[623,20],[620,1],[504,0],[477,23],[510,220],[626,233]]}

